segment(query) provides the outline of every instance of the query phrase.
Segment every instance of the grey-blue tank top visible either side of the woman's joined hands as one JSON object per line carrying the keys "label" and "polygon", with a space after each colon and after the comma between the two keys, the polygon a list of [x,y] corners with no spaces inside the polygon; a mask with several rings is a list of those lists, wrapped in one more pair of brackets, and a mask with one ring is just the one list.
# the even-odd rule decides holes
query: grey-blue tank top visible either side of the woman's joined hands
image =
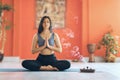
{"label": "grey-blue tank top visible either side of the woman's joined hands", "polygon": [[[54,33],[52,33],[52,35],[51,35],[50,39],[48,40],[48,42],[49,42],[49,44],[50,44],[51,46],[54,45]],[[40,34],[38,33],[38,45],[39,45],[39,46],[43,46],[44,43],[45,43],[45,40],[44,40],[44,39],[40,36]]]}

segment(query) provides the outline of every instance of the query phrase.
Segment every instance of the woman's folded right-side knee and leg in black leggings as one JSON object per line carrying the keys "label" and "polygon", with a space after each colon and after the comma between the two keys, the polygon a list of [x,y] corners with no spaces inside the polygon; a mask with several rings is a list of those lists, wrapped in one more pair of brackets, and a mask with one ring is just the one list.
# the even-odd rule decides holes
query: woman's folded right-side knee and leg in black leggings
{"label": "woman's folded right-side knee and leg in black leggings", "polygon": [[57,62],[52,64],[52,66],[56,67],[59,71],[70,68],[70,65],[70,62],[67,60],[58,60]]}

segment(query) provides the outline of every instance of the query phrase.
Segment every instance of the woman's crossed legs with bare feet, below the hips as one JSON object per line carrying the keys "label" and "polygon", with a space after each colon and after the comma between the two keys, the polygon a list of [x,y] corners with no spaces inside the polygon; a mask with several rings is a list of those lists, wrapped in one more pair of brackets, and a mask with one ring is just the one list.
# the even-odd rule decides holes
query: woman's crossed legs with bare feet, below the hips
{"label": "woman's crossed legs with bare feet, below the hips", "polygon": [[49,65],[43,65],[37,60],[24,60],[22,62],[22,66],[28,70],[31,71],[62,71],[65,69],[68,69],[70,67],[70,62],[67,60],[58,60],[54,63],[51,63]]}

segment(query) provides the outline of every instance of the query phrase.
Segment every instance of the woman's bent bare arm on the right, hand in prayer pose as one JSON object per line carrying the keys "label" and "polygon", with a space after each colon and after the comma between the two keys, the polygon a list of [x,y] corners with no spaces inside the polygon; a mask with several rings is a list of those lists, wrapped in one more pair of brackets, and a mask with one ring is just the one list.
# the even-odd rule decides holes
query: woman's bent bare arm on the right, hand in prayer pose
{"label": "woman's bent bare arm on the right, hand in prayer pose", "polygon": [[54,33],[54,40],[55,40],[55,46],[50,46],[49,45],[49,42],[47,40],[47,47],[53,51],[56,51],[56,52],[62,52],[62,46],[61,46],[61,43],[60,43],[60,38],[58,36],[58,34]]}

